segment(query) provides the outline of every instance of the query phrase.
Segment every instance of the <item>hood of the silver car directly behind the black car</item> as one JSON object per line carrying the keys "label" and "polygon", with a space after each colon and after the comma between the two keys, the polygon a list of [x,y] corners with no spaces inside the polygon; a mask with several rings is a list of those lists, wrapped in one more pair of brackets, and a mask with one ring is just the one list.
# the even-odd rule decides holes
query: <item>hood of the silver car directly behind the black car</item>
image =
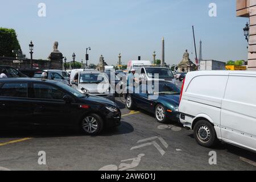
{"label": "hood of the silver car directly behind the black car", "polygon": [[89,93],[109,93],[109,83],[100,84],[79,84],[79,89],[84,88],[89,91]]}

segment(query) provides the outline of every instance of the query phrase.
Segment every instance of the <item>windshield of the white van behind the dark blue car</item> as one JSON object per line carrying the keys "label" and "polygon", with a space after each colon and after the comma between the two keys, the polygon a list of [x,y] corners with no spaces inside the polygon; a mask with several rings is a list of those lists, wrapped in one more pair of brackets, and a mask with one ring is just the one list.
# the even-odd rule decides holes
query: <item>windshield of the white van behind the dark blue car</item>
{"label": "windshield of the white van behind the dark blue car", "polygon": [[174,78],[171,69],[168,68],[146,68],[146,72],[149,77],[156,77],[158,74],[159,78]]}

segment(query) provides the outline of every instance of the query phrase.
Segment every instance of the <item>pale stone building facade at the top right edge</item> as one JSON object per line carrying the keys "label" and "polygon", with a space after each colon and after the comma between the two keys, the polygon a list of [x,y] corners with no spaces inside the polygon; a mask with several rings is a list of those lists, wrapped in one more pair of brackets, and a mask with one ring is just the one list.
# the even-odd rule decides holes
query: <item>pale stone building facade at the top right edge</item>
{"label": "pale stone building facade at the top right edge", "polygon": [[237,16],[249,18],[248,70],[256,71],[256,1],[237,0]]}

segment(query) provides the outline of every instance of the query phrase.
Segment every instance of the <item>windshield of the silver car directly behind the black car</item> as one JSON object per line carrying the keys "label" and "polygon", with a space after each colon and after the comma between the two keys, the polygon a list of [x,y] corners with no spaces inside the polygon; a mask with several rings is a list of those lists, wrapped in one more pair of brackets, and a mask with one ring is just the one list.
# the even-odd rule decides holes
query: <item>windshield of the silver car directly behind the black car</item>
{"label": "windshield of the silver car directly behind the black car", "polygon": [[108,78],[101,73],[81,73],[79,82],[80,84],[100,84],[107,83]]}

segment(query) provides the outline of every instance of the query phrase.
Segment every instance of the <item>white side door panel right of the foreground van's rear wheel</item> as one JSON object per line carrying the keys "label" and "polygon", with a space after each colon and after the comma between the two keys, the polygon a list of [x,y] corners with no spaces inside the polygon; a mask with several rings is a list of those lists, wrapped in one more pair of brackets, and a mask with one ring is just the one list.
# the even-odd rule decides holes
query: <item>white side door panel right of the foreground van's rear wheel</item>
{"label": "white side door panel right of the foreground van's rear wheel", "polygon": [[221,134],[226,142],[256,151],[256,76],[229,76],[221,109]]}

